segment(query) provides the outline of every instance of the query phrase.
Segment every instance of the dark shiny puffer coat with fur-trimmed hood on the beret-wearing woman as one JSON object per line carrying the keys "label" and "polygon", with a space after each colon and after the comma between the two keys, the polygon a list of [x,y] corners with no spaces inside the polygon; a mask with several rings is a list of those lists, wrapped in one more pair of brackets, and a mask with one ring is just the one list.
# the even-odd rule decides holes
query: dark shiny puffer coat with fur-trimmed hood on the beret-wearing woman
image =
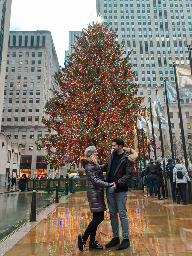
{"label": "dark shiny puffer coat with fur-trimmed hood on the beret-wearing woman", "polygon": [[106,211],[104,188],[107,188],[109,183],[104,181],[99,163],[95,165],[90,158],[83,157],[80,164],[85,168],[87,176],[87,198],[91,212]]}

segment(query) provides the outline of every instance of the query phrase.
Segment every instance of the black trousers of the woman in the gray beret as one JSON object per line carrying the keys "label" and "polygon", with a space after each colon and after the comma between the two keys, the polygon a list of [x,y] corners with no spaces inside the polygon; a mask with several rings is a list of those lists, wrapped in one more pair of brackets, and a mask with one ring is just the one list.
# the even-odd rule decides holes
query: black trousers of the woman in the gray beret
{"label": "black trousers of the woman in the gray beret", "polygon": [[103,212],[93,212],[93,219],[89,223],[88,227],[85,230],[85,233],[83,235],[83,241],[86,241],[88,237],[90,236],[90,244],[92,244],[95,241],[95,235],[97,232],[97,227],[99,223],[101,223],[104,220],[104,211]]}

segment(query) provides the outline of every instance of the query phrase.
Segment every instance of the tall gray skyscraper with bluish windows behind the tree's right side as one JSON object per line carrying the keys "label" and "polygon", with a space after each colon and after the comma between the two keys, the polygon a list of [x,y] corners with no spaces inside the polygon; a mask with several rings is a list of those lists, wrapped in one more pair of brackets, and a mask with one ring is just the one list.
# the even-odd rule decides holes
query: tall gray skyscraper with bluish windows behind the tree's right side
{"label": "tall gray skyscraper with bluish windows behind the tree's right side", "polygon": [[[167,117],[163,77],[174,80],[173,60],[177,65],[189,64],[187,45],[192,43],[192,1],[185,0],[96,0],[97,13],[104,16],[118,33],[118,42],[124,45],[124,56],[133,49],[130,61],[137,73],[135,82],[142,84],[138,95],[155,100],[155,88],[159,87],[161,103]],[[180,140],[178,108],[170,104],[172,135]],[[186,137],[192,133],[192,95],[181,99]],[[164,132],[164,141],[169,133]],[[160,142],[157,139],[157,144]],[[181,145],[182,151],[182,145]],[[191,144],[192,152],[192,144]],[[158,152],[157,152],[158,154]],[[161,153],[159,154],[161,155]],[[165,156],[170,156],[165,148]]]}

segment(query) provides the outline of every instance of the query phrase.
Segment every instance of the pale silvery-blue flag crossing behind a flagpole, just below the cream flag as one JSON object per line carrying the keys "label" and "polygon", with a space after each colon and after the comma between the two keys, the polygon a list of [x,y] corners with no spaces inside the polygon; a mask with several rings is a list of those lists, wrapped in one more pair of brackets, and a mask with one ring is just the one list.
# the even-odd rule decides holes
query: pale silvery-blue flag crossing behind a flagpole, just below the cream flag
{"label": "pale silvery-blue flag crossing behind a flagpole, just below the cream flag", "polygon": [[[175,81],[166,83],[167,87],[167,99],[168,103],[177,100],[177,91]],[[187,95],[192,94],[192,86],[186,85],[185,87],[179,88],[179,97],[183,98]]]}

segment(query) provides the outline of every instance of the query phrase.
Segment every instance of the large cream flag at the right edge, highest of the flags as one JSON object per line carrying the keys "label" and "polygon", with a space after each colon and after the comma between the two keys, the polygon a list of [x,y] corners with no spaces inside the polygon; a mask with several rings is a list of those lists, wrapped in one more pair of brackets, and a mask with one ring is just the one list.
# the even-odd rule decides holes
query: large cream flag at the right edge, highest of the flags
{"label": "large cream flag at the right edge, highest of the flags", "polygon": [[176,66],[178,88],[186,85],[192,86],[191,67],[190,65]]}

